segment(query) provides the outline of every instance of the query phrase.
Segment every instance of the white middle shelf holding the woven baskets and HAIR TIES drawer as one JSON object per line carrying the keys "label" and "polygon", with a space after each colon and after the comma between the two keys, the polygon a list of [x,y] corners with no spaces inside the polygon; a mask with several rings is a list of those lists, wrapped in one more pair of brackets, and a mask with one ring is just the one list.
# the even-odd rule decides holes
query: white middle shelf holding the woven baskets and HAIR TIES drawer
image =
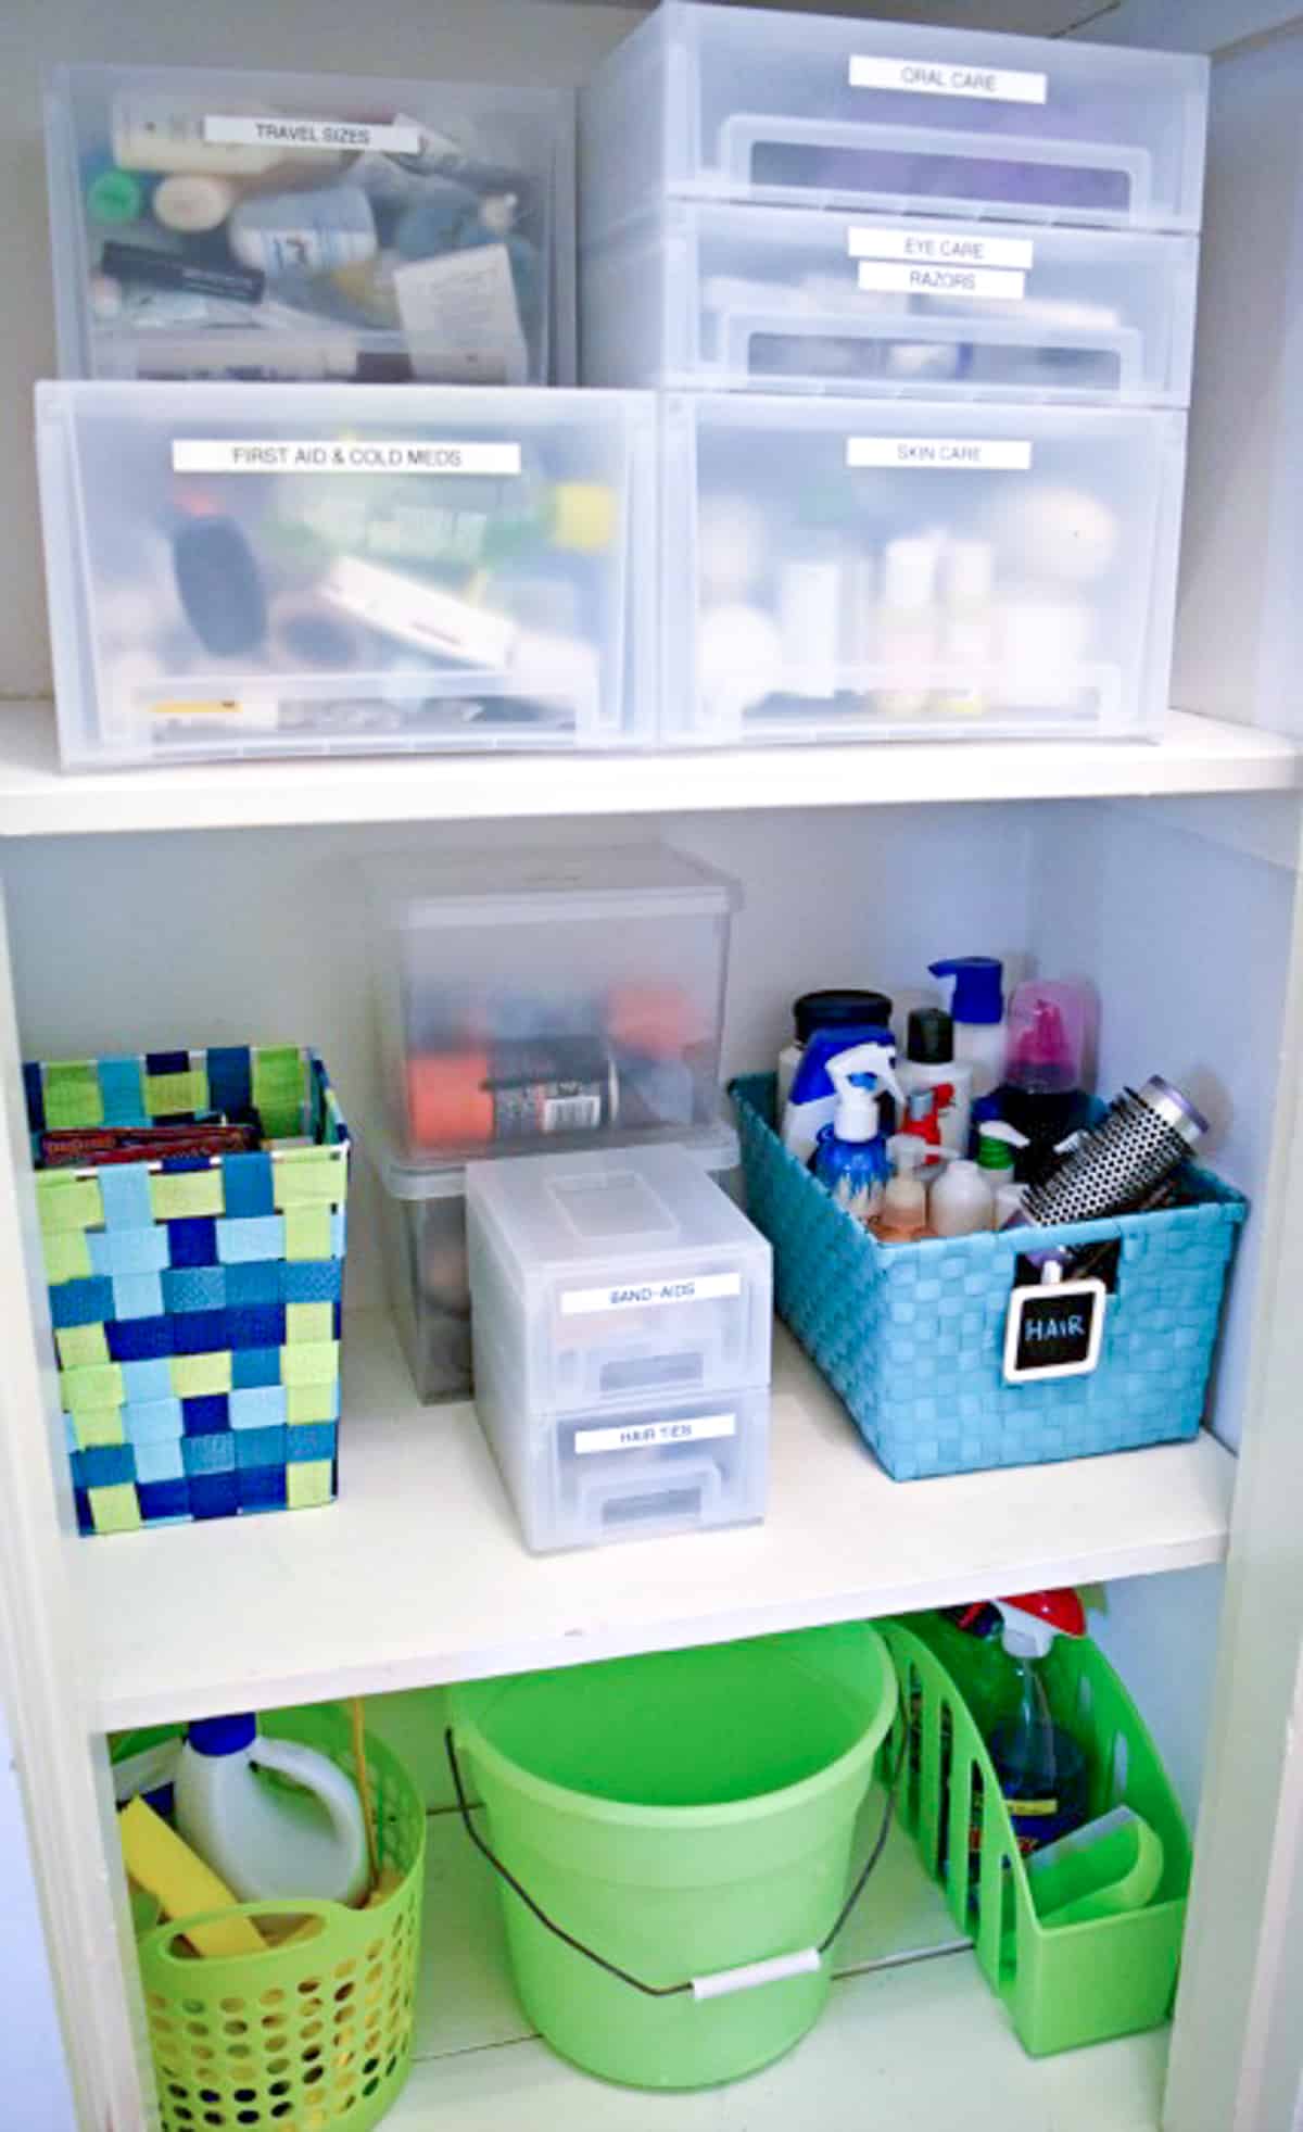
{"label": "white middle shelf holding the woven baskets and HAIR TIES drawer", "polygon": [[384,1693],[1220,1561],[1207,1433],[896,1484],[778,1328],[763,1524],[527,1554],[469,1403],[422,1407],[388,1318],[343,1339],[339,1501],[68,1535],[104,1729]]}

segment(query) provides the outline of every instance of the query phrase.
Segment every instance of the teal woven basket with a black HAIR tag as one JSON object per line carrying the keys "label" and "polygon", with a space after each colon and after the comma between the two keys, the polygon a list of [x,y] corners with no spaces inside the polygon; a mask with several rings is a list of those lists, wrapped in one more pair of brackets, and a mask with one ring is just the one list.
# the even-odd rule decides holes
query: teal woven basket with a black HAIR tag
{"label": "teal woven basket with a black HAIR tag", "polygon": [[[1190,1205],[1075,1222],[1056,1243],[1120,1243],[1090,1377],[1007,1384],[1017,1232],[881,1245],[774,1132],[774,1077],[731,1083],[746,1211],[774,1245],[774,1301],[894,1480],[1047,1465],[1192,1437],[1248,1202],[1190,1168]],[[1026,1243],[1026,1234],[1022,1239]]]}

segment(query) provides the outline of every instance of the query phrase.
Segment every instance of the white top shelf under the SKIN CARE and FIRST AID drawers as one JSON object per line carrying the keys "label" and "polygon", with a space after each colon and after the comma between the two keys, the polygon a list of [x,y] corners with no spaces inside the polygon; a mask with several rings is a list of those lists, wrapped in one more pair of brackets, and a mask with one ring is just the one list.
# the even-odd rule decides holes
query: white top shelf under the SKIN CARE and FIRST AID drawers
{"label": "white top shelf under the SKIN CARE and FIRST AID drawers", "polygon": [[1158,742],[994,740],[665,755],[382,755],[64,776],[49,704],[0,704],[0,838],[350,821],[1290,791],[1290,740],[1173,710]]}

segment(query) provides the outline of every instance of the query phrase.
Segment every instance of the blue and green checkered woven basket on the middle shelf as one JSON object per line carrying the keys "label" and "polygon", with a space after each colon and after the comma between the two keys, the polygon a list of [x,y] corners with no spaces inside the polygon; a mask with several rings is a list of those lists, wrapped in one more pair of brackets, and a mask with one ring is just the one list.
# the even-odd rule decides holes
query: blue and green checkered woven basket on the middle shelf
{"label": "blue and green checkered woven basket on the middle shelf", "polygon": [[81,1531],[333,1501],[350,1143],[320,1057],[147,1051],[23,1079],[34,1136],[254,1111],[309,1143],[36,1173]]}

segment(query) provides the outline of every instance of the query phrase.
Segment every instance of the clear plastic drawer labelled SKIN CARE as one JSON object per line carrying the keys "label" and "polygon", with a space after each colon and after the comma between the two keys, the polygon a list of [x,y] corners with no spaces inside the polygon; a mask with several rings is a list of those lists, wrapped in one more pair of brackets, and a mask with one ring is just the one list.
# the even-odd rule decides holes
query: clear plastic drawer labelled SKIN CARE
{"label": "clear plastic drawer labelled SKIN CARE", "polygon": [[1179,414],[672,397],[665,740],[1154,731],[1184,452]]}

